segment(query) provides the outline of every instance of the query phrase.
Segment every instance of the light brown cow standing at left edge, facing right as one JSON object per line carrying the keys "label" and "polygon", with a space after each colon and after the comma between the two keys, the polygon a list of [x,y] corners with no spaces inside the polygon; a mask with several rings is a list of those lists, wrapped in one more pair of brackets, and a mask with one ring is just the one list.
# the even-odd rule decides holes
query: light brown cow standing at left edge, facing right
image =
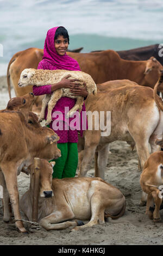
{"label": "light brown cow standing at left edge, facing right", "polygon": [[[23,167],[28,167],[34,157],[47,160],[60,156],[57,148],[59,137],[48,127],[35,128],[29,125],[20,111],[4,111],[0,113],[0,168],[3,185],[4,221],[10,220],[8,193],[15,220],[21,220],[18,203],[17,174]],[[16,227],[25,232],[21,221]]]}

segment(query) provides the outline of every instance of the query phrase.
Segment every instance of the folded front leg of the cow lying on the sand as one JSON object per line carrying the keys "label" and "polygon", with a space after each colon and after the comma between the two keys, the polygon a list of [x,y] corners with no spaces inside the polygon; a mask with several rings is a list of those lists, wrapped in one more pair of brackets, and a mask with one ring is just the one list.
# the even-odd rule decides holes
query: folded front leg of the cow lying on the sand
{"label": "folded front leg of the cow lying on the sand", "polygon": [[[45,218],[42,218],[40,221],[41,227],[45,228],[46,230],[53,230],[53,229],[65,229],[67,227],[76,226],[76,221],[66,221],[72,220],[74,218],[73,212],[63,206],[64,212],[55,211],[53,214],[48,215]],[[61,222],[61,223],[60,223]]]}

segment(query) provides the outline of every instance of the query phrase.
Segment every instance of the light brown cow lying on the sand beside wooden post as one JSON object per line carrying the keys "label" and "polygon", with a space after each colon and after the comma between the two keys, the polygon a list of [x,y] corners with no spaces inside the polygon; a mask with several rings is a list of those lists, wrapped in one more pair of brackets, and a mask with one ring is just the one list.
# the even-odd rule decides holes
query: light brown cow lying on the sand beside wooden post
{"label": "light brown cow lying on the sand beside wooden post", "polygon": [[[34,169],[34,164],[30,166]],[[100,178],[53,179],[52,164],[40,160],[40,192],[38,221],[46,230],[65,229],[77,226],[77,220],[91,220],[72,230],[103,224],[104,217],[121,217],[126,209],[126,200],[116,187]],[[32,220],[33,178],[30,188],[23,194],[20,207],[28,220]],[[48,192],[48,193],[47,193]],[[53,194],[51,198],[46,198]]]}

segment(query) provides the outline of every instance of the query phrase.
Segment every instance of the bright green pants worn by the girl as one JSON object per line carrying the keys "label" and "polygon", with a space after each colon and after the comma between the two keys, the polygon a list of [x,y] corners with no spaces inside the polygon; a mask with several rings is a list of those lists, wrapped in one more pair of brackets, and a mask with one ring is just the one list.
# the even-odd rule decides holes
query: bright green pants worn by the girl
{"label": "bright green pants worn by the girl", "polygon": [[58,143],[57,147],[61,151],[61,157],[51,160],[55,161],[55,166],[53,167],[53,179],[74,177],[78,166],[77,143]]}

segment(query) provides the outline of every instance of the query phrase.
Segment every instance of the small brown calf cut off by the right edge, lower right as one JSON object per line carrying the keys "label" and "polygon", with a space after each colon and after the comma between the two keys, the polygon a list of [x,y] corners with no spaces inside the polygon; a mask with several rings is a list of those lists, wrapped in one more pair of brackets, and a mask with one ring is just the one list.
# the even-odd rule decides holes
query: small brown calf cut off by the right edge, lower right
{"label": "small brown calf cut off by the right edge, lower right", "polygon": [[[157,140],[156,144],[163,148],[163,140]],[[145,162],[143,172],[140,176],[140,185],[142,191],[148,194],[146,214],[154,222],[161,222],[160,205],[162,203],[162,195],[159,186],[163,185],[163,152],[158,151],[151,154]],[[162,186],[163,187],[163,186]],[[151,207],[155,204],[154,212]]]}

